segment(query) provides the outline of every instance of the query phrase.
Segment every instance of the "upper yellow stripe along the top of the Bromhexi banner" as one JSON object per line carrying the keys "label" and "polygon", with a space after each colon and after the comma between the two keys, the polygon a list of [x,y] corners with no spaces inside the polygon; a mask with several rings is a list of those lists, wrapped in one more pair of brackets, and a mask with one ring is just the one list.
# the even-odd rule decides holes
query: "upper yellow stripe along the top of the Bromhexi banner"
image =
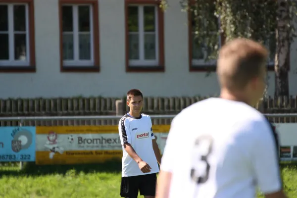
{"label": "upper yellow stripe along the top of the Bromhexi banner", "polygon": [[[170,125],[153,125],[153,132],[168,133]],[[102,126],[38,126],[36,134],[49,134],[49,132],[57,134],[97,134],[97,133],[118,133],[118,126],[102,125]]]}

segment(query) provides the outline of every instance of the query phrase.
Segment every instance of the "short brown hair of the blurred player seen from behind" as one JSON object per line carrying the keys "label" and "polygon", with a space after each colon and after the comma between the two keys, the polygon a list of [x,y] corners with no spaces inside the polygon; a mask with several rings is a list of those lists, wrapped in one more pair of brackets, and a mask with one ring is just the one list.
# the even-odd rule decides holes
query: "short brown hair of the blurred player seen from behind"
{"label": "short brown hair of the blurred player seen from behind", "polygon": [[221,86],[243,89],[254,77],[260,76],[267,62],[268,50],[249,39],[235,39],[219,52],[217,74]]}

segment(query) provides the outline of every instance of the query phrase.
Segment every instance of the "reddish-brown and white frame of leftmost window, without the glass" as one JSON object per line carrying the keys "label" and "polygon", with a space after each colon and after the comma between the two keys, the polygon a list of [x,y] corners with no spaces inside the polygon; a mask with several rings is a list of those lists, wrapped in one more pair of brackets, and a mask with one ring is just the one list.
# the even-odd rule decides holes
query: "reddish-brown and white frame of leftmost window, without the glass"
{"label": "reddish-brown and white frame of leftmost window, without the glass", "polygon": [[[9,60],[0,61],[0,72],[36,72],[35,66],[35,21],[34,21],[34,0],[0,0],[0,4],[7,5],[8,8],[8,46]],[[26,31],[15,31],[13,27],[13,5],[25,5]],[[12,9],[12,10],[11,10]],[[12,11],[12,12],[11,12]],[[10,26],[10,27],[9,27]],[[26,33],[26,62],[15,60],[13,36],[15,32]],[[11,36],[13,34],[13,36]],[[12,42],[12,43],[11,43]],[[13,58],[13,60],[11,60]]]}

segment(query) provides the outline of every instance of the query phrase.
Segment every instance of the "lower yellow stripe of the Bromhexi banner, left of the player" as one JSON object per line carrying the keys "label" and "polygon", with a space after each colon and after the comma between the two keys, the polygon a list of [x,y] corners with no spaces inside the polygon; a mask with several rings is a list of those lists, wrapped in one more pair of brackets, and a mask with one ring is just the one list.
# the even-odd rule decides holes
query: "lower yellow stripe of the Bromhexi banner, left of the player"
{"label": "lower yellow stripe of the Bromhexi banner, left of the player", "polygon": [[50,151],[36,151],[36,164],[88,164],[99,163],[111,159],[121,159],[122,150],[71,150],[55,154],[50,158]]}

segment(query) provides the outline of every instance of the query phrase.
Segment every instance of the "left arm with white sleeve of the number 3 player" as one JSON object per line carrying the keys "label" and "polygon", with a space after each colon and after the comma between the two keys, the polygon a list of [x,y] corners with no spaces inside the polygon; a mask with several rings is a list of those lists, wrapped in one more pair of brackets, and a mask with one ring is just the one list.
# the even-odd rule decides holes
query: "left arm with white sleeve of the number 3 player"
{"label": "left arm with white sleeve of the number 3 player", "polygon": [[[176,118],[175,118],[176,119]],[[160,173],[156,187],[156,198],[169,198],[169,191],[171,185],[171,178],[173,172],[173,165],[176,159],[176,149],[178,144],[175,119],[171,122],[170,131],[167,137],[162,162],[160,165]]]}

